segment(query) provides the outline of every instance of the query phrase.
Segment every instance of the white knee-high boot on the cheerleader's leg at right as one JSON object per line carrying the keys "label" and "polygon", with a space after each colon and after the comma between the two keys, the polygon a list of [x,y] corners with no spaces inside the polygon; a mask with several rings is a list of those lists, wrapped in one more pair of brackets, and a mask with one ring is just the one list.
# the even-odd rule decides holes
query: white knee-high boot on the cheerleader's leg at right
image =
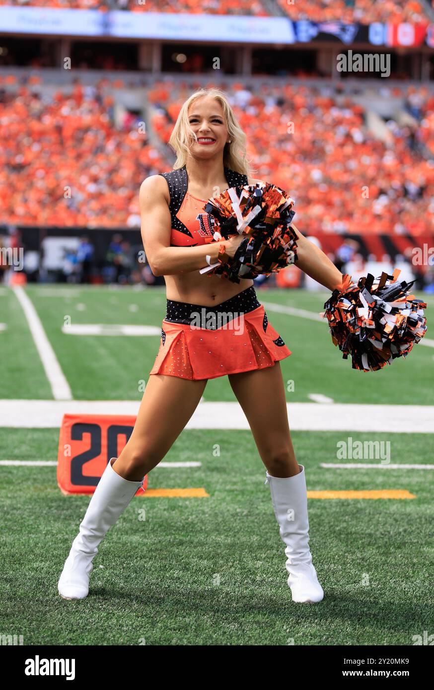
{"label": "white knee-high boot on the cheerleader's leg at right", "polygon": [[267,472],[265,483],[270,484],[280,536],[286,544],[286,570],[293,601],[314,604],[322,600],[324,591],[310,555],[306,475],[304,466],[299,468],[299,474],[293,477],[272,477]]}

